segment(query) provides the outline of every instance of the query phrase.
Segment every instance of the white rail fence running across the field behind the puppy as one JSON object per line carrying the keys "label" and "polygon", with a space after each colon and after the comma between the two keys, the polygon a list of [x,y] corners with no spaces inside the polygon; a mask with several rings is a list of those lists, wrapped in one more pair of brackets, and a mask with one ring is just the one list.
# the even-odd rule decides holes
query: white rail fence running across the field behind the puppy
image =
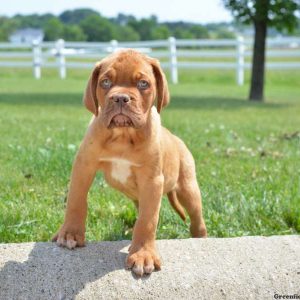
{"label": "white rail fence running across the field behind the puppy", "polygon": [[[37,79],[41,78],[42,68],[57,68],[59,76],[65,78],[67,69],[92,69],[94,61],[120,48],[135,48],[160,59],[162,67],[169,69],[171,81],[175,84],[179,69],[232,69],[236,72],[237,84],[242,85],[252,56],[252,41],[243,37],[236,40],[176,40],[170,37],[168,40],[113,40],[107,43],[58,40],[32,44],[0,43],[0,68],[33,68]],[[300,69],[300,38],[268,39],[266,54],[267,58],[275,59],[267,62],[267,68]]]}

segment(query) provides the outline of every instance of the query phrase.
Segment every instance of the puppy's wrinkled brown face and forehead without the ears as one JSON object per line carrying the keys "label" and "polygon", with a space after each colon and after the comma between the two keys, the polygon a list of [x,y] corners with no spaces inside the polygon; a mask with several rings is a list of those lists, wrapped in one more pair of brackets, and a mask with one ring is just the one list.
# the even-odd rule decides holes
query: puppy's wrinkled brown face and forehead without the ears
{"label": "puppy's wrinkled brown face and forehead without the ears", "polygon": [[97,98],[106,127],[142,127],[156,93],[152,67],[139,56],[109,59],[98,78]]}

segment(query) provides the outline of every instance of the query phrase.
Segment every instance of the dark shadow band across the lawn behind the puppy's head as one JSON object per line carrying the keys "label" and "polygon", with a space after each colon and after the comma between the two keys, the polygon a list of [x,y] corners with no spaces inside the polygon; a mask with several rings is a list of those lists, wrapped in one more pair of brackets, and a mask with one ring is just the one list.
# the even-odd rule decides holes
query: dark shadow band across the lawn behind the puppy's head
{"label": "dark shadow band across the lawn behind the puppy's head", "polygon": [[[50,105],[50,106],[82,106],[81,93],[53,93],[53,94],[0,94],[0,104],[8,105]],[[170,108],[174,109],[243,109],[264,108],[277,109],[286,107],[288,103],[258,103],[241,98],[219,96],[173,96]]]}

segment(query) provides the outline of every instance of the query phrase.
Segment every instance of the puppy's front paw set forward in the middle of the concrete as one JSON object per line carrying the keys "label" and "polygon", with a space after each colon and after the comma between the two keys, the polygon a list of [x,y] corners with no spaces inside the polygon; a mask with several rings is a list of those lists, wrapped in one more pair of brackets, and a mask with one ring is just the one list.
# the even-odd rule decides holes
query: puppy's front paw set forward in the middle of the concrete
{"label": "puppy's front paw set forward in the middle of the concrete", "polygon": [[160,270],[161,262],[155,249],[141,247],[137,251],[130,249],[126,259],[126,268],[132,269],[137,276],[151,274],[154,270]]}

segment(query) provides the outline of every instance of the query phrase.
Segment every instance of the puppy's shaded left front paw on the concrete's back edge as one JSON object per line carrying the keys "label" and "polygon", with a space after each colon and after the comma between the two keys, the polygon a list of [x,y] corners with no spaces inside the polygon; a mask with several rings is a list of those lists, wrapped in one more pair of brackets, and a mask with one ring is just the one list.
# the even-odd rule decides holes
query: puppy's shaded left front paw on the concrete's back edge
{"label": "puppy's shaded left front paw on the concrete's back edge", "polygon": [[74,249],[85,245],[85,228],[78,225],[64,224],[52,238],[58,246]]}

